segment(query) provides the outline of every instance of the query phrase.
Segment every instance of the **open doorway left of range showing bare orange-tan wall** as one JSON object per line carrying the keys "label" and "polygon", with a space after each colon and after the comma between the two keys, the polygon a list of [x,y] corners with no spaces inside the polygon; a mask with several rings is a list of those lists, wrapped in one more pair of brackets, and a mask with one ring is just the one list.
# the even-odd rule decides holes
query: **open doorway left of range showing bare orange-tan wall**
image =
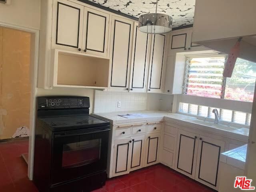
{"label": "open doorway left of range showing bare orange-tan wall", "polygon": [[28,180],[30,52],[29,32],[0,26],[0,153],[6,188]]}

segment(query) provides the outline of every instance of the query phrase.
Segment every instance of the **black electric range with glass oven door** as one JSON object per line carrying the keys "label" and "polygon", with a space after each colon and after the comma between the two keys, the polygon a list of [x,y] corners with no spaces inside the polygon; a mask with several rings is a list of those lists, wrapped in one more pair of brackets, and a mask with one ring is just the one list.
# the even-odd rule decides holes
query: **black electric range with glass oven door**
{"label": "black electric range with glass oven door", "polygon": [[110,123],[88,97],[37,98],[34,182],[42,192],[89,192],[106,181]]}

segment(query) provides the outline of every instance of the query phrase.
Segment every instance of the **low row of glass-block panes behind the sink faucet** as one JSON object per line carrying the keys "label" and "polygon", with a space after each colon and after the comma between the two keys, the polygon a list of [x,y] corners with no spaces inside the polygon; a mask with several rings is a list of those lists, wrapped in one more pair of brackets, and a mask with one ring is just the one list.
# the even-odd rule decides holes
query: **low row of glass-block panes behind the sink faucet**
{"label": "low row of glass-block panes behind the sink faucet", "polygon": [[[214,113],[212,110],[215,109],[213,107],[195,105],[190,103],[179,103],[179,112],[183,114],[192,114],[201,117],[207,117],[214,119]],[[226,122],[234,122],[238,124],[250,125],[251,114],[240,112],[240,111],[232,111],[227,109],[219,109],[219,119]]]}

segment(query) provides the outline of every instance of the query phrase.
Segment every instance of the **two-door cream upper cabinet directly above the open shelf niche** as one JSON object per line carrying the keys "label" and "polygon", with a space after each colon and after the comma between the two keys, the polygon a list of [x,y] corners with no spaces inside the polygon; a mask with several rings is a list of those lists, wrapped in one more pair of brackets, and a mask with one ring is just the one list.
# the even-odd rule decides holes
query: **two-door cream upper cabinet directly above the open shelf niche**
{"label": "two-door cream upper cabinet directly above the open shelf niche", "polygon": [[109,14],[54,0],[52,49],[108,57]]}

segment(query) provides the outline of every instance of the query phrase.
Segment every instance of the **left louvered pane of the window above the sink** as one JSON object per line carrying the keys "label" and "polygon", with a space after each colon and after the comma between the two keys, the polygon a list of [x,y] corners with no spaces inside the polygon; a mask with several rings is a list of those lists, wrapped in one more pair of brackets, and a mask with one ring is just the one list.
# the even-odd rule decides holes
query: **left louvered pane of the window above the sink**
{"label": "left louvered pane of the window above the sink", "polygon": [[184,93],[221,98],[225,57],[188,58]]}

